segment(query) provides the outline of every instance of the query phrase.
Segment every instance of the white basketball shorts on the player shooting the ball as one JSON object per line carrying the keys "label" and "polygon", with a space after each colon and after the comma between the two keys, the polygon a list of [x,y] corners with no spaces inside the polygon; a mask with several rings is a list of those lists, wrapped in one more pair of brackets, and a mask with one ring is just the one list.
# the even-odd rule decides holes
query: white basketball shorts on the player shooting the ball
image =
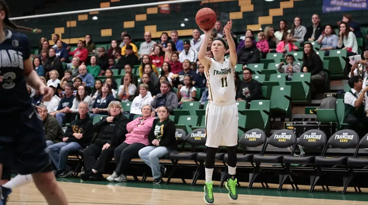
{"label": "white basketball shorts on the player shooting the ball", "polygon": [[238,143],[238,107],[236,102],[209,101],[206,107],[207,147],[236,146]]}

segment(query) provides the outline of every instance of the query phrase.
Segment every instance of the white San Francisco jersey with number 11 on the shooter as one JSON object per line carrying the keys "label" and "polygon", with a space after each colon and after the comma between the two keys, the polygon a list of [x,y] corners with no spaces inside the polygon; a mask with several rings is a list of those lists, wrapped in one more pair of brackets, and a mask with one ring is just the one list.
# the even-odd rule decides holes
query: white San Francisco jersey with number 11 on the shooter
{"label": "white San Francisco jersey with number 11 on the shooter", "polygon": [[205,73],[208,82],[208,100],[230,102],[235,100],[235,83],[233,66],[229,59],[223,64],[211,58],[212,64]]}

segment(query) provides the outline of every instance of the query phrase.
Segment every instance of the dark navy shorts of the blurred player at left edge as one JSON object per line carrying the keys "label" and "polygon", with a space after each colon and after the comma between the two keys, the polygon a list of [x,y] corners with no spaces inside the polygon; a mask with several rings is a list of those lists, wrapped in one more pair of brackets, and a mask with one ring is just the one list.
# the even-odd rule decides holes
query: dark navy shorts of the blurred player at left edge
{"label": "dark navy shorts of the blurred player at left edge", "polygon": [[45,129],[34,106],[0,115],[0,163],[21,175],[52,171]]}

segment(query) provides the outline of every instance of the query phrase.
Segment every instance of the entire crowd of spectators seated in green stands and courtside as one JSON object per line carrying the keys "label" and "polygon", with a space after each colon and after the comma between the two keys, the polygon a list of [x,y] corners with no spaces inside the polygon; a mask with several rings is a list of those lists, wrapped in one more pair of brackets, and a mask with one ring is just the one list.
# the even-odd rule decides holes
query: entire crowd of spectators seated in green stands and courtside
{"label": "entire crowd of spectators seated in green stands and courtside", "polygon": [[[326,51],[325,56],[333,49],[346,49],[351,56],[358,52],[357,37],[363,37],[351,15],[344,15],[337,24],[339,33],[336,34],[332,25],[323,26],[314,14],[308,27],[301,25],[301,19],[296,17],[291,29],[283,20],[276,32],[272,26],[266,26],[257,33],[257,38],[248,29],[236,49],[242,73],[234,72],[235,100],[262,99],[262,84],[252,78],[253,71],[247,65],[260,63],[268,53],[283,53],[286,63],[278,64],[277,70],[287,74],[286,80],[292,80],[293,73],[309,72],[312,92],[324,86],[326,73],[313,44],[321,45],[319,50]],[[126,181],[130,160],[140,157],[151,167],[155,183],[161,183],[165,168],[159,165],[158,159],[177,147],[175,125],[168,116],[187,101],[199,101],[203,107],[208,101],[208,83],[204,66],[198,61],[199,47],[204,43],[204,36],[198,29],[193,30],[192,39],[180,40],[176,30],[170,35],[163,32],[157,42],[151,37],[151,32],[145,32],[145,42],[138,48],[128,32],[123,32],[122,41],[112,40],[106,50],[96,47],[92,36],[86,35],[72,51],[57,34],[53,37],[54,45],[45,37],[41,38],[39,55],[33,58],[33,66],[43,82],[53,88],[54,96],[50,101],[43,101],[38,90],[31,87],[28,90],[45,125],[46,143],[56,176],[70,176],[72,170],[66,164],[67,156],[86,148],[83,180],[102,180],[106,164],[114,157],[117,168],[107,180]],[[216,22],[207,44],[206,56],[210,58],[215,37],[227,40],[220,21]],[[297,47],[296,42],[301,46]],[[295,63],[293,55],[287,54],[290,51],[303,52],[301,65]],[[351,77],[351,92],[346,95],[345,103],[356,110],[362,109],[359,93],[367,90],[368,72],[360,75],[358,71],[367,66],[368,49],[364,50],[364,58],[351,66],[348,76]],[[120,83],[117,83],[119,73]],[[359,87],[362,80],[365,88]],[[350,94],[356,94],[357,98],[351,98]],[[124,111],[121,102],[131,102],[130,110]],[[353,108],[349,110],[354,111]],[[96,115],[105,116],[93,125]],[[351,115],[346,114],[345,121],[355,127],[356,121],[367,118]],[[61,127],[66,125],[64,133]],[[94,141],[93,133],[98,133]]]}

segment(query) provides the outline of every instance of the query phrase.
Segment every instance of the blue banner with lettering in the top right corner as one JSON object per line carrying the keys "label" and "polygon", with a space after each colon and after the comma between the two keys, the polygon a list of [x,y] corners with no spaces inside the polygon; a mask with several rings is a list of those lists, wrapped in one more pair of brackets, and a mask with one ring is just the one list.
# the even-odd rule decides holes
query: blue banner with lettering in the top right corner
{"label": "blue banner with lettering in the top right corner", "polygon": [[367,0],[323,0],[323,13],[367,10]]}

